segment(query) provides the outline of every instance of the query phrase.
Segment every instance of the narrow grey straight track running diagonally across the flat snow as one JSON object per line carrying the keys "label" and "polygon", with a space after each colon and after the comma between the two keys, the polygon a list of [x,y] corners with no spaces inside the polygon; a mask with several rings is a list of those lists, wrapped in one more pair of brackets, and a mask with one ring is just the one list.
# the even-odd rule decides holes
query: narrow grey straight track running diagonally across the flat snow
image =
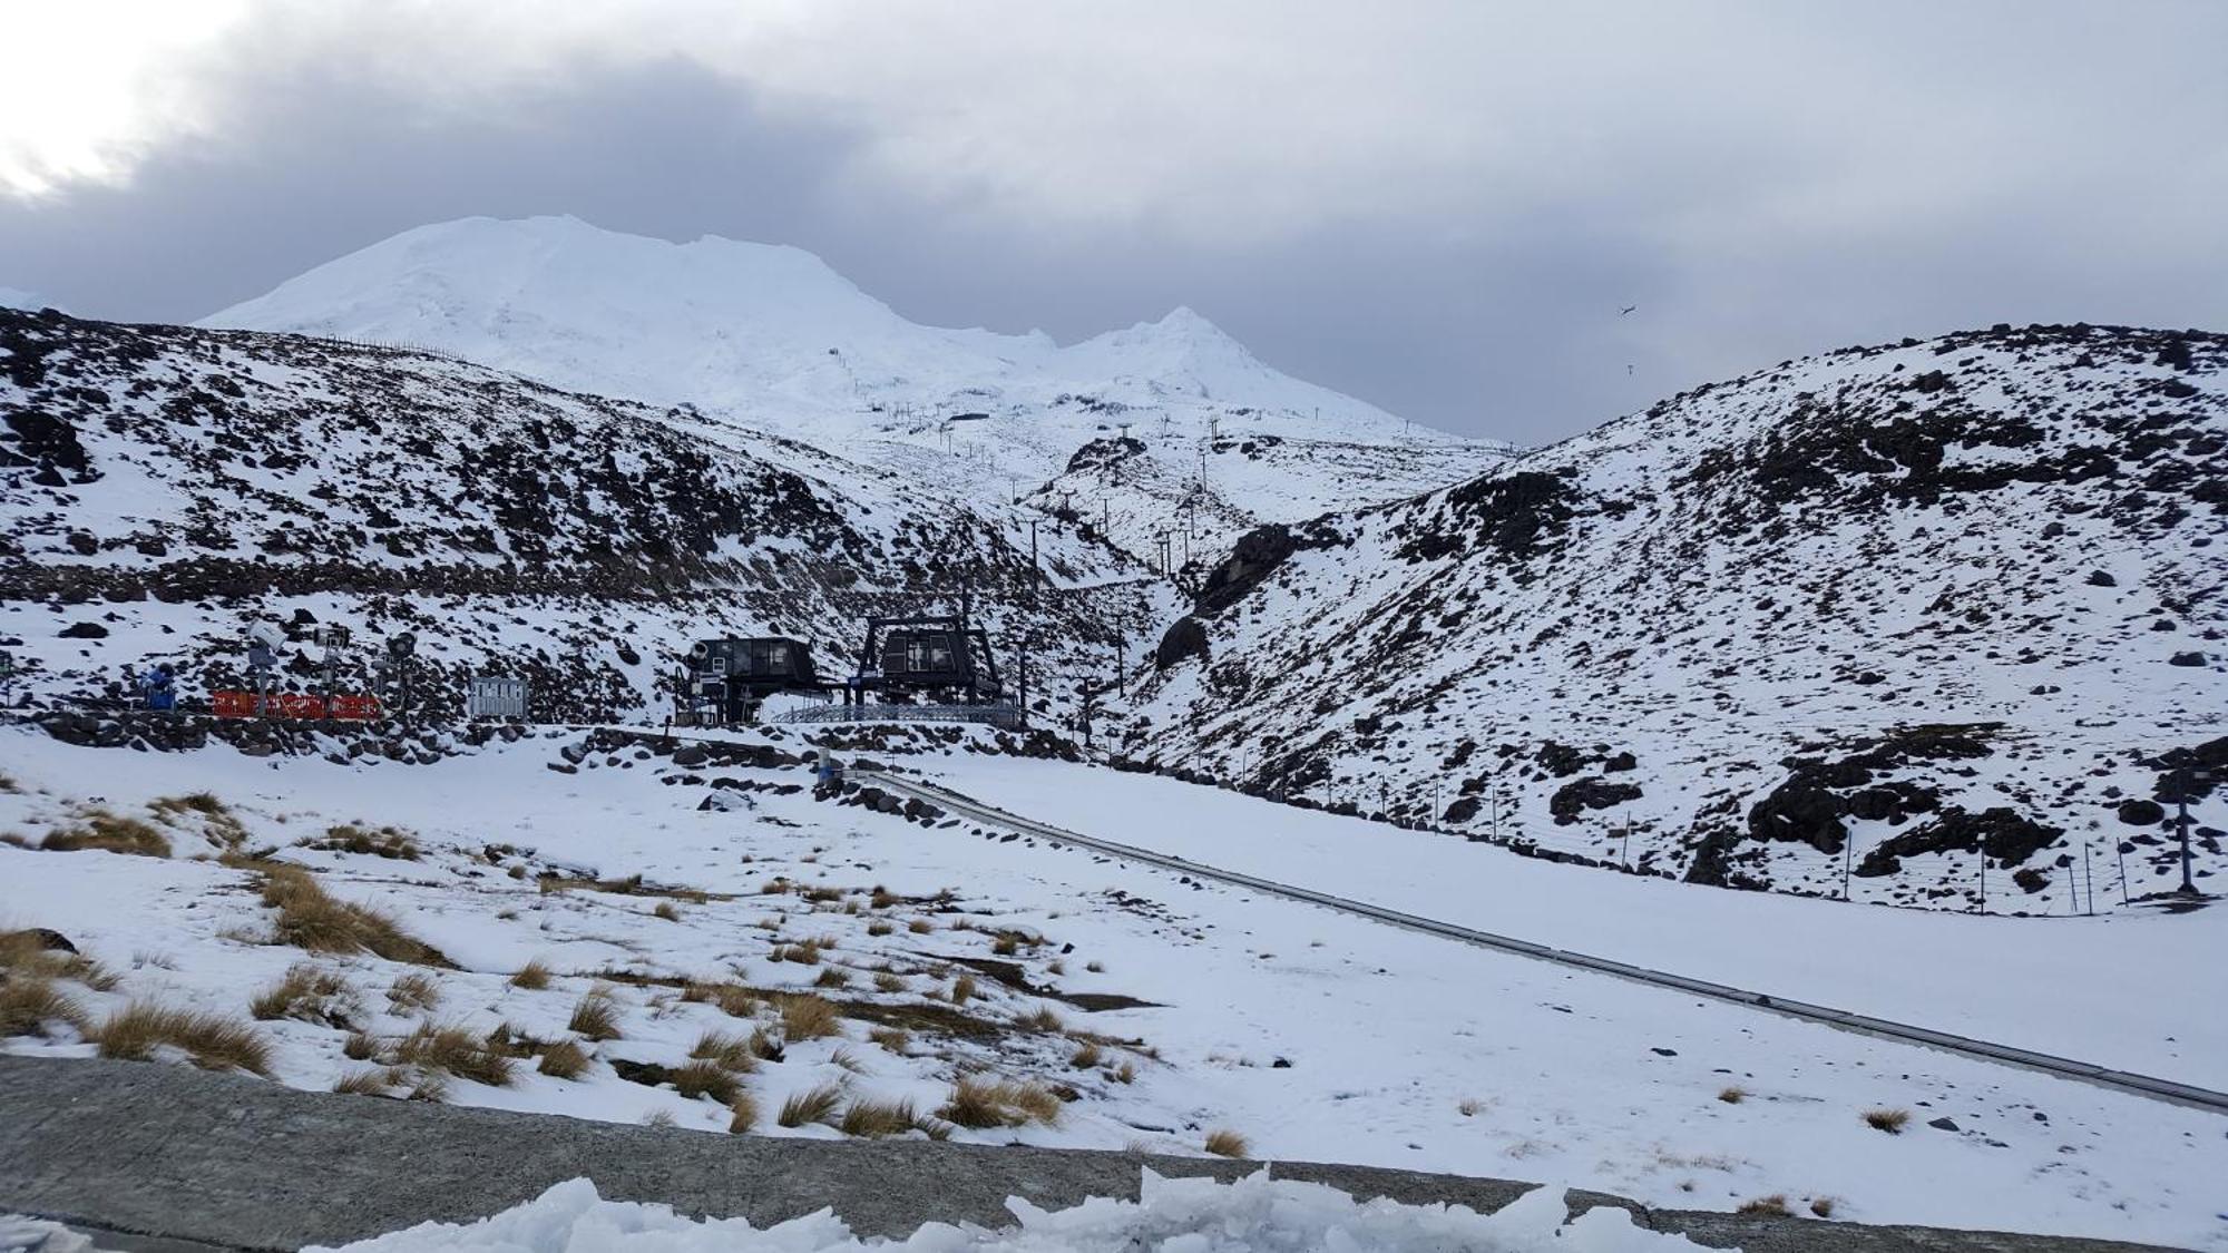
{"label": "narrow grey straight track running diagonally across the flat snow", "polygon": [[1751,1010],[1765,1010],[1771,1014],[1782,1014],[1791,1019],[1814,1021],[1829,1028],[1869,1035],[1878,1039],[1894,1039],[1903,1043],[1916,1043],[1923,1048],[1938,1048],[1943,1052],[1956,1052],[1963,1057],[1974,1057],[1981,1061],[1994,1061],[1999,1066],[2019,1066],[2023,1070],[2041,1070],[2043,1075],[2056,1075],[2061,1079],[2076,1079],[2081,1084],[2094,1084],[2099,1088],[2112,1088],[2117,1092],[2130,1092],[2137,1097],[2148,1097],[2154,1101],[2170,1101],[2177,1106],[2190,1106],[2199,1110],[2228,1115],[2228,1092],[2215,1092],[2210,1088],[2197,1088],[2192,1084],[2177,1084],[2172,1079],[2159,1079],[2152,1075],[2134,1075],[2128,1070],[2112,1070],[2097,1066],[2092,1061],[2076,1061],[2070,1057],[2052,1057],[2048,1052],[2034,1052],[2032,1048],[2019,1048],[2010,1043],[1996,1043],[1987,1039],[1972,1039],[1963,1035],[1938,1032],[1923,1026],[1898,1023],[1889,1019],[1874,1019],[1867,1014],[1851,1014],[1847,1010],[1834,1010],[1827,1006],[1811,1006],[1805,1001],[1789,1001],[1787,997],[1773,997],[1767,992],[1749,992],[1747,988],[1729,988],[1724,983],[1709,983],[1704,979],[1687,979],[1684,974],[1673,974],[1667,970],[1649,970],[1642,965],[1631,965],[1624,961],[1611,961],[1606,956],[1591,956],[1584,952],[1571,952],[1564,948],[1551,948],[1544,943],[1533,943],[1515,936],[1502,936],[1493,932],[1479,932],[1475,927],[1462,927],[1455,923],[1442,923],[1437,919],[1424,919],[1417,914],[1404,914],[1399,910],[1386,910],[1381,905],[1370,905],[1366,901],[1352,901],[1346,896],[1330,896],[1326,892],[1315,892],[1308,887],[1294,887],[1290,883],[1277,883],[1270,878],[1257,878],[1252,874],[1239,874],[1234,870],[1219,870],[1212,865],[1201,865],[1190,858],[1159,854],[1152,849],[1141,849],[1134,845],[1123,845],[1116,841],[1103,841],[1098,836],[1085,836],[1069,832],[1065,827],[1054,827],[1049,823],[1038,823],[1036,818],[1025,818],[1020,814],[1009,814],[996,805],[985,805],[974,796],[954,791],[949,787],[925,783],[918,778],[905,778],[889,774],[887,769],[860,769],[851,767],[860,778],[873,780],[876,787],[896,791],[902,796],[913,796],[929,805],[938,805],[958,814],[962,818],[974,818],[978,823],[989,823],[994,827],[1007,827],[1027,836],[1036,836],[1054,843],[1069,843],[1103,852],[1107,856],[1118,856],[1123,861],[1134,861],[1143,865],[1156,865],[1161,870],[1172,870],[1179,874],[1190,874],[1194,878],[1210,878],[1216,883],[1228,883],[1232,887],[1245,887],[1250,892],[1261,892],[1266,896],[1283,896],[1288,901],[1303,901],[1308,905],[1321,905],[1326,910],[1339,910],[1341,914],[1357,914],[1395,927],[1406,927],[1413,932],[1435,934],[1442,939],[1470,943],[1479,948],[1491,948],[1497,952],[1511,952],[1517,956],[1531,956],[1537,961],[1553,961],[1557,965],[1571,965],[1577,970],[1591,970],[1595,974],[1611,974],[1615,979],[1629,979],[1633,983],[1646,983],[1653,988],[1669,988],[1673,992],[1691,992],[1696,997],[1709,997],[1713,1001],[1727,1001],[1733,1006],[1745,1006]]}

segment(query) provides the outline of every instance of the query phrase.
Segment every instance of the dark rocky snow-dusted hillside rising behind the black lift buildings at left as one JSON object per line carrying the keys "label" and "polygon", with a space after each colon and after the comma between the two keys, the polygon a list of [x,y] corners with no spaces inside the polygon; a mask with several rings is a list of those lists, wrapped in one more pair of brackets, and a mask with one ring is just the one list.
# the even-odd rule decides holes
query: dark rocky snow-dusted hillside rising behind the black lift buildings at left
{"label": "dark rocky snow-dusted hillside rising behind the black lift buildings at left", "polygon": [[[437,354],[0,310],[0,647],[18,696],[100,696],[152,662],[238,682],[250,618],[417,631],[419,698],[535,680],[555,718],[642,716],[688,640],[789,633],[822,664],[869,611],[976,591],[1038,640],[1038,696],[1172,593],[1076,528],[684,408]],[[1023,613],[1025,604],[1036,604]],[[312,649],[292,655],[296,682]]]}

